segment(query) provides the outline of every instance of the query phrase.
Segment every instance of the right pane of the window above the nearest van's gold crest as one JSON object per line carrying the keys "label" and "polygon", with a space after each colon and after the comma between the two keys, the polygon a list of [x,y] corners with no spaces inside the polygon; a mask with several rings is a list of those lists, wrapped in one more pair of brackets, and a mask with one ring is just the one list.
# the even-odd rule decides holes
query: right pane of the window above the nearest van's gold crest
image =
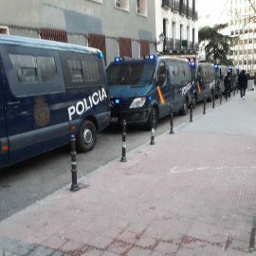
{"label": "right pane of the window above the nearest van's gold crest", "polygon": [[42,82],[50,82],[57,74],[57,67],[53,57],[37,56],[37,64],[40,70]]}

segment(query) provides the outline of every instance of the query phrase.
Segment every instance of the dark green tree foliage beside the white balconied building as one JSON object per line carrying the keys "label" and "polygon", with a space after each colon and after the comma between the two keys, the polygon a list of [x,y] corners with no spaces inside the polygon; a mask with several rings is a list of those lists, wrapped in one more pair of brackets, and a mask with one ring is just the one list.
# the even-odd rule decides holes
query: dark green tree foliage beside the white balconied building
{"label": "dark green tree foliage beside the white balconied building", "polygon": [[202,27],[198,31],[199,44],[205,48],[206,62],[232,65],[228,59],[230,44],[237,40],[237,37],[223,35],[220,30],[228,27],[229,24],[219,24],[214,27]]}

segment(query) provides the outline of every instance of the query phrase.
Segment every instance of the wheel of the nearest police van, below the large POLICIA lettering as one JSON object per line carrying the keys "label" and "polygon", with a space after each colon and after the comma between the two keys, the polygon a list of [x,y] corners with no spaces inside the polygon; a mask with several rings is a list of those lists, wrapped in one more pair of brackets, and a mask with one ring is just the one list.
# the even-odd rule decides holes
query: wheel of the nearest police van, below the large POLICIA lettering
{"label": "wheel of the nearest police van, below the large POLICIA lettering", "polygon": [[94,123],[90,120],[84,120],[77,137],[78,151],[85,153],[92,150],[97,139],[97,131]]}

